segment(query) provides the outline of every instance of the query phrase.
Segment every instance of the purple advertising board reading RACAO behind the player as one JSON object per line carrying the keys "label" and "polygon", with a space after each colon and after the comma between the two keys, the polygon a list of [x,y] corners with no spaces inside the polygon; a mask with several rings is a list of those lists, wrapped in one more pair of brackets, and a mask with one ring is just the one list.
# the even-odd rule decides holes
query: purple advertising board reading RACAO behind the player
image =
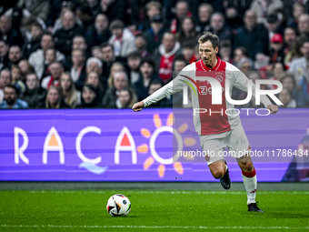
{"label": "purple advertising board reading RACAO behind the player", "polygon": [[[184,114],[194,128],[192,109]],[[173,162],[172,116],[176,124],[173,109],[3,110],[0,181],[216,181],[205,162]],[[303,147],[308,116],[308,109],[280,109],[241,118],[253,149],[272,152]],[[182,146],[199,147],[188,132],[178,132]],[[258,181],[308,181],[306,156],[253,159]],[[242,181],[237,164],[230,161],[229,168],[232,181]]]}

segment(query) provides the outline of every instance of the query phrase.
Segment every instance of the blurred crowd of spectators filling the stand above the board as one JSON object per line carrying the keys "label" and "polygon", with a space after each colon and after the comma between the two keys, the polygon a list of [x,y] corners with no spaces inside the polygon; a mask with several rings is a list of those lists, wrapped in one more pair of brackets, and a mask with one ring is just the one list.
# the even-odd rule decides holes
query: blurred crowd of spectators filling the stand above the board
{"label": "blurred crowd of spectators filling the stand above the board", "polygon": [[0,108],[132,107],[200,59],[206,31],[250,79],[281,81],[283,107],[308,107],[308,14],[309,0],[2,1]]}

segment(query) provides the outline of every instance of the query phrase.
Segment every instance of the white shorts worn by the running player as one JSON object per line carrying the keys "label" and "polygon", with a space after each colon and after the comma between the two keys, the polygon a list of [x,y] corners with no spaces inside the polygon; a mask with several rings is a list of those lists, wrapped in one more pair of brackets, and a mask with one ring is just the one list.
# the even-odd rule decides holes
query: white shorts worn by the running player
{"label": "white shorts worn by the running player", "polygon": [[[221,134],[200,136],[200,143],[203,151],[207,154],[205,159],[208,166],[218,160],[224,160],[224,156],[240,158],[251,151],[251,146],[241,124]],[[224,152],[226,146],[228,153]]]}

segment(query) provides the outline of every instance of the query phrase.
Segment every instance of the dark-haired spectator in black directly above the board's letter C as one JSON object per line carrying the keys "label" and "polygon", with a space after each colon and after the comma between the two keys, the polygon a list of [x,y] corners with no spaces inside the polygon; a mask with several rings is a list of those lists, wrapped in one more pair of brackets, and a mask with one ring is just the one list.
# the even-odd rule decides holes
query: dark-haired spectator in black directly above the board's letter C
{"label": "dark-haired spectator in black directly above the board's letter C", "polygon": [[78,108],[97,108],[100,107],[97,89],[95,86],[86,84],[83,86],[82,103],[77,106]]}

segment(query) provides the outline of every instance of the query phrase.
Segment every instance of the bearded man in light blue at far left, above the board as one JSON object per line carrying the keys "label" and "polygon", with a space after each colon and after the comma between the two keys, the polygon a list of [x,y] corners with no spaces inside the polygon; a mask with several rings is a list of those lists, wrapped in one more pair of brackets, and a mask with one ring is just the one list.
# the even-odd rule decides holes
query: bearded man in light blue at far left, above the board
{"label": "bearded man in light blue at far left, above the board", "polygon": [[15,85],[8,84],[4,89],[5,98],[0,105],[2,109],[23,109],[27,108],[28,104],[18,97],[18,89]]}

